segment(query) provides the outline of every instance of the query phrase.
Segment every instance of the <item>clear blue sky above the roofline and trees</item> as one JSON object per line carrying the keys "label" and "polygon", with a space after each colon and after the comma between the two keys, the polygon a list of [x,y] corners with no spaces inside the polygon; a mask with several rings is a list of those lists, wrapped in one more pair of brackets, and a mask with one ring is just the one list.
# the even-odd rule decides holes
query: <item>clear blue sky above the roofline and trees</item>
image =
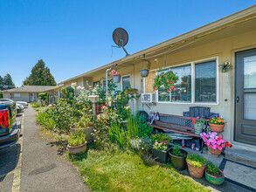
{"label": "clear blue sky above the roofline and trees", "polygon": [[0,0],[0,75],[16,86],[43,59],[57,82],[125,57],[112,32],[128,31],[128,53],[209,24],[255,1]]}

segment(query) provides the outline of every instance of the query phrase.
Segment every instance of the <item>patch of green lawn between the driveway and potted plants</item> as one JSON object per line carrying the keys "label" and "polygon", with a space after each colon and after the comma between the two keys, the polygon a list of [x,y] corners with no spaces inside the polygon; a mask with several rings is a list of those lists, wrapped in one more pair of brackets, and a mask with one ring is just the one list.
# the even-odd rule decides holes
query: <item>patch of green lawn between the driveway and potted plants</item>
{"label": "patch of green lawn between the driveway and potted plants", "polygon": [[174,168],[143,161],[132,152],[89,150],[73,157],[67,154],[66,158],[79,168],[94,191],[209,191]]}

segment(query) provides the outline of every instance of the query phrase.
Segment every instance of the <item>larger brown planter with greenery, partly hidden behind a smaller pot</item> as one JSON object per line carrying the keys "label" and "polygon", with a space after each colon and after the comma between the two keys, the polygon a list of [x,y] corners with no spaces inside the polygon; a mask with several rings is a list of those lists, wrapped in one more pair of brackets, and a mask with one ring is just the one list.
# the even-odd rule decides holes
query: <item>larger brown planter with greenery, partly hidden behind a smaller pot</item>
{"label": "larger brown planter with greenery, partly hidden behind a smaller pot", "polygon": [[86,134],[87,143],[93,142],[93,117],[85,114],[81,117],[80,121],[70,127],[70,132],[74,133],[75,130],[82,130]]}

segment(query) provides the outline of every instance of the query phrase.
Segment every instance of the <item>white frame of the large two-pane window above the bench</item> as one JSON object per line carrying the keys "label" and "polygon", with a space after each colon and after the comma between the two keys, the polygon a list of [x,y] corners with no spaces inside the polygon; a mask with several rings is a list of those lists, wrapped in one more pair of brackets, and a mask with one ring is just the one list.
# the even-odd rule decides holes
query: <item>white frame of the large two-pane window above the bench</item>
{"label": "white frame of the large two-pane window above the bench", "polygon": [[[216,61],[216,102],[196,102],[195,101],[195,87],[196,87],[196,65],[200,64],[200,63],[204,63],[207,61],[212,61],[215,60]],[[170,104],[170,105],[197,105],[197,106],[218,106],[218,93],[219,93],[219,80],[218,80],[218,56],[217,57],[212,57],[212,58],[204,58],[204,59],[200,59],[200,60],[196,60],[196,61],[192,61],[192,62],[187,62],[187,63],[183,63],[183,64],[179,64],[179,65],[172,65],[172,66],[167,66],[167,67],[163,67],[162,69],[171,69],[171,68],[175,68],[178,66],[183,66],[183,65],[190,65],[191,66],[191,102],[166,102],[166,101],[159,101],[159,97],[158,97],[158,90],[156,91],[156,103],[159,104]],[[157,72],[156,72],[157,75]]]}

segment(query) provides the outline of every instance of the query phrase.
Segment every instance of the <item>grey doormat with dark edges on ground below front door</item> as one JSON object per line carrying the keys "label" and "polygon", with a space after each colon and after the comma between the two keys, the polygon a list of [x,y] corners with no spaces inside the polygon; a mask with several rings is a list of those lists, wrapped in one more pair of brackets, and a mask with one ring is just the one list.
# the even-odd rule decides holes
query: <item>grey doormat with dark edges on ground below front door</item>
{"label": "grey doormat with dark edges on ground below front door", "polygon": [[256,192],[256,168],[224,158],[219,169],[223,171],[225,181]]}

